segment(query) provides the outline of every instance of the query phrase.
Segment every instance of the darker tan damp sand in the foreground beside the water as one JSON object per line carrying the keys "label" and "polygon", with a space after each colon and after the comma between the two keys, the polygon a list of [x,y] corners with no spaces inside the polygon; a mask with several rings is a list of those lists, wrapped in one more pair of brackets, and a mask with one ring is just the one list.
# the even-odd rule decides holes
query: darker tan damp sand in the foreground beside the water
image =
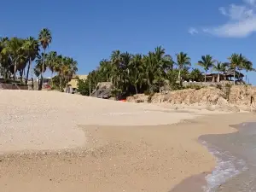
{"label": "darker tan damp sand in the foreground beside the water", "polygon": [[87,137],[84,147],[3,154],[0,188],[24,192],[201,191],[206,184],[202,176],[216,164],[198,137],[236,131],[229,125],[254,118],[251,113],[230,113],[175,125],[79,125]]}

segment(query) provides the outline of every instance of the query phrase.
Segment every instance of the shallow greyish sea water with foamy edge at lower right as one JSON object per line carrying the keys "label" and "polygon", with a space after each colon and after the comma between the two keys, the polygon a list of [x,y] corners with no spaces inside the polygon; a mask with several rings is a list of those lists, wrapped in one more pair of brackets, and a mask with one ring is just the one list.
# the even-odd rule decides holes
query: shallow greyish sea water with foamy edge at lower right
{"label": "shallow greyish sea water with foamy edge at lower right", "polygon": [[217,160],[203,191],[256,192],[256,123],[235,127],[234,133],[199,138]]}

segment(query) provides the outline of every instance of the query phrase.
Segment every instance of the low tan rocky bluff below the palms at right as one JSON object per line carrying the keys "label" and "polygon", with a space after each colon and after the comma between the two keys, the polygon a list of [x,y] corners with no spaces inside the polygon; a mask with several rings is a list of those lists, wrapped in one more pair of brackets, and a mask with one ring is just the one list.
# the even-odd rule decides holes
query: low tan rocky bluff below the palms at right
{"label": "low tan rocky bluff below the palms at right", "polygon": [[166,102],[172,105],[203,104],[209,110],[212,106],[218,106],[218,108],[221,107],[227,111],[237,112],[240,109],[252,111],[256,108],[256,87],[236,85],[222,88],[207,87],[200,90],[175,90],[167,94],[156,93],[150,96],[138,94],[127,97],[127,102]]}

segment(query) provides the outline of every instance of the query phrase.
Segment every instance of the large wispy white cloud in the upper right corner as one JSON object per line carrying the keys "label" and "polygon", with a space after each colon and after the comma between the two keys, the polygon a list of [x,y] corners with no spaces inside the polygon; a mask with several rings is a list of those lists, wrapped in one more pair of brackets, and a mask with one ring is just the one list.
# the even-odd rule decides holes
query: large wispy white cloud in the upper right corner
{"label": "large wispy white cloud in the upper right corner", "polygon": [[207,32],[218,37],[245,38],[256,32],[256,0],[242,0],[218,9],[228,21],[219,26],[204,27]]}

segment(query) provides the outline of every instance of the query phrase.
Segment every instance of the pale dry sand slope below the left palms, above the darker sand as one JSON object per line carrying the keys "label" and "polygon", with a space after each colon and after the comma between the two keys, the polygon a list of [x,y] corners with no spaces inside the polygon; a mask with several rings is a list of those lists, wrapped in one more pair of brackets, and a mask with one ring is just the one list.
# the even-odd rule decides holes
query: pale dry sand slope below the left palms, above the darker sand
{"label": "pale dry sand slope below the left palms, above the darker sand", "polygon": [[78,125],[167,125],[195,114],[55,91],[0,90],[0,153],[83,146]]}

